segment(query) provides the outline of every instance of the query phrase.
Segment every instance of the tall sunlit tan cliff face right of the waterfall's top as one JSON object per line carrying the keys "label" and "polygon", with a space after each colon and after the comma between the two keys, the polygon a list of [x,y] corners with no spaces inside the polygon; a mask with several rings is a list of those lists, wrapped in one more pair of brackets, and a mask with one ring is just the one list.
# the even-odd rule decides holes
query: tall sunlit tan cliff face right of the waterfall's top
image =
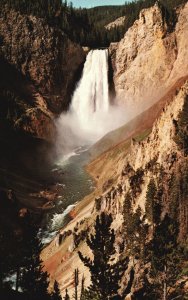
{"label": "tall sunlit tan cliff face right of the waterfall's top", "polygon": [[172,30],[156,4],[142,10],[124,38],[111,44],[117,101],[136,103],[141,111],[187,74],[187,16],[188,4],[177,12],[178,20]]}

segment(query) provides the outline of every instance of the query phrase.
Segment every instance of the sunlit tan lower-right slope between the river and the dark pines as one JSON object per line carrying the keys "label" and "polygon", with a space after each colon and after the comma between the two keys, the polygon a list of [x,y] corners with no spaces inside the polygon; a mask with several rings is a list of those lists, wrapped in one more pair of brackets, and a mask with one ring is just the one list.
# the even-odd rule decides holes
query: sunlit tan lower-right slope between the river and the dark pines
{"label": "sunlit tan lower-right slope between the river and the dark pines", "polygon": [[[178,149],[174,141],[175,123],[187,101],[187,95],[188,81],[185,81],[181,88],[178,87],[176,92],[168,97],[166,105],[150,131],[137,132],[132,136],[132,140],[127,139],[113,147],[88,166],[88,170],[98,180],[97,190],[90,195],[90,198],[84,199],[83,204],[78,205],[82,207],[80,212],[79,209],[76,210],[75,219],[61,231],[62,243],[58,243],[57,237],[42,253],[46,270],[51,274],[52,282],[56,279],[60,283],[62,295],[66,288],[69,289],[70,294],[73,293],[72,274],[76,267],[81,274],[87,274],[77,251],[81,250],[84,254],[89,254],[84,238],[92,228],[97,213],[104,211],[113,215],[118,247],[118,242],[122,238],[120,232],[123,223],[123,204],[127,193],[130,193],[133,199],[134,211],[139,205],[144,213],[147,187],[150,179],[153,178],[157,186],[163,189],[163,213],[169,212],[172,188],[169,182],[174,174],[181,177],[181,170],[182,174],[184,172],[183,166],[187,166],[187,157]],[[180,200],[179,218],[182,237],[188,230],[185,199],[182,197]],[[87,276],[86,284],[88,283]],[[135,288],[138,288],[138,284],[133,285],[132,292]]]}

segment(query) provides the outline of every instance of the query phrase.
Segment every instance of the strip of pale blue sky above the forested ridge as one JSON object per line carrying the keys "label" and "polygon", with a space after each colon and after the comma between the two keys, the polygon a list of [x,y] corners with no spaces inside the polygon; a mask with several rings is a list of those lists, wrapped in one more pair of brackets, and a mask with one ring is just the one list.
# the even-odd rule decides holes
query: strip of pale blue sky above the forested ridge
{"label": "strip of pale blue sky above the forested ridge", "polygon": [[125,0],[72,0],[72,3],[74,7],[90,8],[101,5],[122,5]]}

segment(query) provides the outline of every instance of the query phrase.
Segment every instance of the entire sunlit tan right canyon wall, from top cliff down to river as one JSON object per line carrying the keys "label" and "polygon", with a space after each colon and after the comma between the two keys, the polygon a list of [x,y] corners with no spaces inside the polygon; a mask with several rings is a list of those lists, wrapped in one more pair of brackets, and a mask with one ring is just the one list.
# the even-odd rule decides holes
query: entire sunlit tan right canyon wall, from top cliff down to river
{"label": "entire sunlit tan right canyon wall, from top cliff down to river", "polygon": [[[144,212],[149,180],[154,177],[159,184],[161,167],[164,172],[163,187],[166,189],[162,200],[163,213],[169,211],[168,181],[182,165],[187,164],[187,159],[174,142],[174,120],[178,120],[188,93],[185,46],[187,10],[186,4],[178,11],[173,32],[169,32],[159,6],[143,10],[124,38],[109,48],[115,101],[126,104],[129,123],[107,134],[91,147],[93,160],[87,171],[95,178],[96,189],[73,209],[71,214],[74,219],[59,232],[62,242],[58,243],[58,235],[42,252],[45,270],[51,274],[51,287],[57,280],[62,295],[66,288],[70,295],[73,294],[72,274],[76,268],[80,278],[83,274],[86,277],[85,284],[90,282],[87,269],[77,253],[88,254],[89,249],[82,237],[91,230],[96,214],[112,214],[118,243],[121,240],[123,203],[127,191],[133,194],[134,211],[139,206]],[[137,176],[140,170],[142,180],[135,187],[130,178]],[[187,215],[185,203],[182,203],[179,218],[182,222],[180,234],[186,236],[188,223],[183,215]],[[78,243],[75,236],[80,237]],[[139,268],[138,262],[136,266]],[[137,280],[139,277],[135,278],[126,299],[133,299],[133,294],[141,287],[136,285]]]}

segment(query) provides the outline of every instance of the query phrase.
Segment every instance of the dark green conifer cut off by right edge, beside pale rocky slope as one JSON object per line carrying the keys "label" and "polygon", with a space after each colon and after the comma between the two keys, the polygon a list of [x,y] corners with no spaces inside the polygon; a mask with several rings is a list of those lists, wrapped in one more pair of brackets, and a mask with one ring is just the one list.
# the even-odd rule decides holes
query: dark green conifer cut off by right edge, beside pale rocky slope
{"label": "dark green conifer cut off by right edge, beside pale rocky slope", "polygon": [[183,109],[179,113],[178,121],[175,123],[176,136],[174,138],[178,147],[185,155],[188,154],[188,95],[186,96]]}

